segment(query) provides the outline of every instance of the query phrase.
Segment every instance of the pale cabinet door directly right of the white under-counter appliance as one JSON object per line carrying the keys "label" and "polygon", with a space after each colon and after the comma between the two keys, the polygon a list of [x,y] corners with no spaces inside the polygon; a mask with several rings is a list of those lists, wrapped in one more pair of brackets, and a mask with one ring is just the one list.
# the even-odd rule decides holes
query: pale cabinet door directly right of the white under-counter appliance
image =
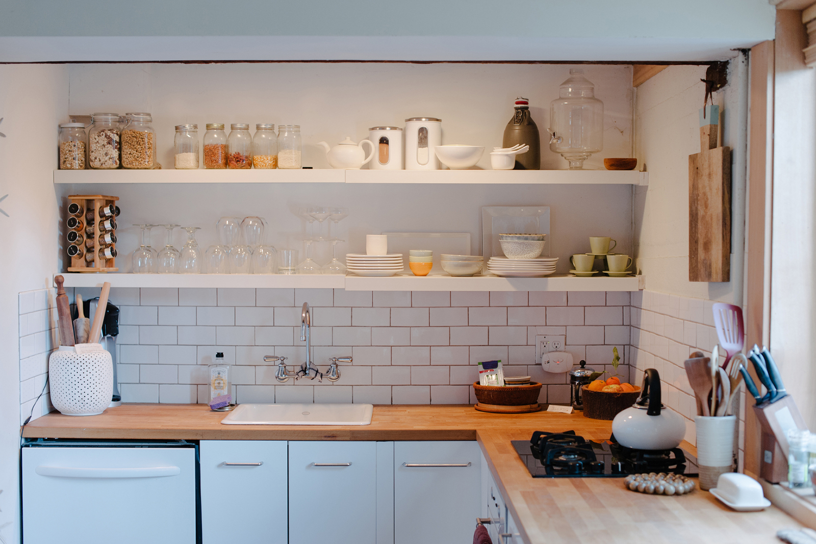
{"label": "pale cabinet door directly right of the white under-counter appliance", "polygon": [[286,440],[202,440],[203,544],[286,544]]}

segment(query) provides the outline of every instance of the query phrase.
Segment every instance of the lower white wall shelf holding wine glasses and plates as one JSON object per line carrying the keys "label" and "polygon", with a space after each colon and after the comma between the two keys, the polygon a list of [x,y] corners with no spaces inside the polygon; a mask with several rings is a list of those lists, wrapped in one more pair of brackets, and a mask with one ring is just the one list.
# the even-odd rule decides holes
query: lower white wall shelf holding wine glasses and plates
{"label": "lower white wall shelf holding wine glasses and plates", "polygon": [[204,287],[345,289],[349,291],[637,291],[644,276],[628,277],[499,277],[499,276],[414,276],[390,277],[342,275],[283,276],[262,274],[126,274],[63,273],[66,287]]}

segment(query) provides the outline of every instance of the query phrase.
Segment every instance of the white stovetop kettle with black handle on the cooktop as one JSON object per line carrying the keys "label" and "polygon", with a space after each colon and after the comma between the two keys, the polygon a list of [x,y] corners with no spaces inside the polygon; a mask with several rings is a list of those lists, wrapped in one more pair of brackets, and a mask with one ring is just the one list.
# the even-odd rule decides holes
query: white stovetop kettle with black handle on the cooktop
{"label": "white stovetop kettle with black handle on the cooktop", "polygon": [[685,436],[685,421],[660,403],[660,375],[646,369],[641,398],[612,420],[612,435],[619,444],[634,449],[672,449]]}

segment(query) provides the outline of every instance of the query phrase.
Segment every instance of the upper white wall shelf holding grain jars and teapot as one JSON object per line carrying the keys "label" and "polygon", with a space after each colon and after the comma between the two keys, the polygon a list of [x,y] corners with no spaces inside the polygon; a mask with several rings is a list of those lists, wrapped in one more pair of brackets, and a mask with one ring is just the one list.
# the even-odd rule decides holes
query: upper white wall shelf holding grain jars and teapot
{"label": "upper white wall shelf holding grain jars and teapot", "polygon": [[635,170],[54,170],[55,184],[628,184]]}

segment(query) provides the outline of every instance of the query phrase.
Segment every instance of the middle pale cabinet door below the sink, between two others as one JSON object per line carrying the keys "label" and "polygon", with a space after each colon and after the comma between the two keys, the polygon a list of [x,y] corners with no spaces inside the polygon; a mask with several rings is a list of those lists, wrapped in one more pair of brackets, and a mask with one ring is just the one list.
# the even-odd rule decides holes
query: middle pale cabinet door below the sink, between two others
{"label": "middle pale cabinet door below the sink, between two others", "polygon": [[376,464],[376,442],[290,442],[289,544],[375,544]]}

